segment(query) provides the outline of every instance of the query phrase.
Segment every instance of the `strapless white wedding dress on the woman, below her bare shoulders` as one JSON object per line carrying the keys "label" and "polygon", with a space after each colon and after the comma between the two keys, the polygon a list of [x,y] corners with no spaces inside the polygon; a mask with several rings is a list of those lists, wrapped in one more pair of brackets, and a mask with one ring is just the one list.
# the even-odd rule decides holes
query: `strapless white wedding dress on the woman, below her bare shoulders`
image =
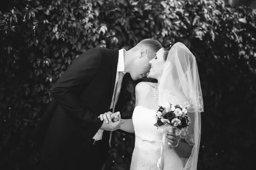
{"label": "strapless white wedding dress on the woman, below her bare shoulders", "polygon": [[[132,121],[135,147],[130,170],[159,170],[157,160],[161,156],[163,133],[154,126],[157,121],[155,110],[137,106],[134,108]],[[167,139],[164,146],[164,170],[182,170],[183,163],[168,145]]]}

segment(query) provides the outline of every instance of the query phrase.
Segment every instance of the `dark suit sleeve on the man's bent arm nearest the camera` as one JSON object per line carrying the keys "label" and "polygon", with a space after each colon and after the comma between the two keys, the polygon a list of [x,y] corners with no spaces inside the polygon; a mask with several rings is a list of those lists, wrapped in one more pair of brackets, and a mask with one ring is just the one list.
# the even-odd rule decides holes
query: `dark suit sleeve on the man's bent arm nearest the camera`
{"label": "dark suit sleeve on the man's bent arm nearest the camera", "polygon": [[70,116],[85,127],[93,126],[97,129],[102,126],[102,121],[97,118],[96,114],[88,110],[87,106],[79,99],[79,95],[95,78],[101,62],[102,56],[98,50],[89,49],[84,52],[61,75],[51,93],[56,102]]}

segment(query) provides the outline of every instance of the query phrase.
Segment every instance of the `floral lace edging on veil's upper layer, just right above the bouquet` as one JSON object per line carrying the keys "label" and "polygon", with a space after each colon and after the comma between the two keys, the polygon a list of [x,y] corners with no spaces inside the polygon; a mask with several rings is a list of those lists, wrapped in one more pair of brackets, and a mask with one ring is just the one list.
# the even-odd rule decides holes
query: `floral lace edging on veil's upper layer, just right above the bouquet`
{"label": "floral lace edging on veil's upper layer, just right above the bouquet", "polygon": [[199,112],[204,112],[204,104],[203,104],[203,100],[202,97],[200,96],[200,93],[198,91],[191,91],[189,92],[189,98],[190,101],[186,101],[185,107],[187,107],[188,109],[196,109]]}

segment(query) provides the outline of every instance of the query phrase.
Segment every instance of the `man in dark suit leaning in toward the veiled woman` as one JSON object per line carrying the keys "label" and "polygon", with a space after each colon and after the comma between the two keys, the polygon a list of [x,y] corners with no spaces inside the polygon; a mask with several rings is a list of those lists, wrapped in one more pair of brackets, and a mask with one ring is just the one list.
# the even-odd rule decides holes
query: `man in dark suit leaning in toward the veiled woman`
{"label": "man in dark suit leaning in toward the veiled woman", "polygon": [[122,122],[106,123],[98,116],[122,111],[129,79],[143,78],[161,47],[145,39],[128,51],[92,48],[76,58],[53,86],[52,102],[35,130],[35,136],[45,133],[42,169],[101,170],[110,131]]}

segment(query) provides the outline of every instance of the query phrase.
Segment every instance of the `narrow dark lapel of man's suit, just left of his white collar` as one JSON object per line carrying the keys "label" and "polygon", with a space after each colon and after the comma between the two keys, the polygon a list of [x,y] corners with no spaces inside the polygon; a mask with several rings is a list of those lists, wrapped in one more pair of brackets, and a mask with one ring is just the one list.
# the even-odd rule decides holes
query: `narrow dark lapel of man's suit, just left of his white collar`
{"label": "narrow dark lapel of man's suit, just left of his white collar", "polygon": [[119,49],[113,50],[113,63],[112,63],[112,77],[111,77],[111,95],[110,95],[110,104],[113,97],[114,87],[116,83],[116,70],[118,63]]}

